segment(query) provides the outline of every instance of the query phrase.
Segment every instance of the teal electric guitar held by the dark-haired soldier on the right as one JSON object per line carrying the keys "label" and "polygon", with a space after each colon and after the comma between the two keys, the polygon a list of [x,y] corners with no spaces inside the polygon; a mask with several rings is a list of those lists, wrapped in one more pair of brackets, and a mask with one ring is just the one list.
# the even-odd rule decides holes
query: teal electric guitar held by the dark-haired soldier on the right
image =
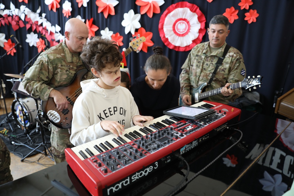
{"label": "teal electric guitar held by the dark-haired soldier on the right", "polygon": [[[254,86],[253,88],[255,89],[256,85],[260,86],[262,84],[261,83],[262,78],[263,78],[263,76],[257,76],[257,78],[255,78],[254,76],[252,78],[250,78],[250,76],[249,76],[248,78],[244,78],[244,80],[242,82],[231,84],[229,86],[229,88],[234,90],[236,88],[243,87],[245,89],[249,88],[249,90],[251,90],[250,88]],[[223,87],[220,87],[220,88],[217,88],[217,89],[214,89],[214,90],[211,90],[211,91],[206,91],[206,92],[201,93],[205,86],[207,86],[206,82],[202,83],[197,88],[192,88],[191,87],[190,95],[191,95],[192,105],[195,104],[195,103],[198,103],[199,100],[204,99],[206,97],[210,97],[210,96],[213,96],[213,95],[220,94],[220,90],[223,88]],[[179,98],[179,105],[184,105],[181,96]]]}

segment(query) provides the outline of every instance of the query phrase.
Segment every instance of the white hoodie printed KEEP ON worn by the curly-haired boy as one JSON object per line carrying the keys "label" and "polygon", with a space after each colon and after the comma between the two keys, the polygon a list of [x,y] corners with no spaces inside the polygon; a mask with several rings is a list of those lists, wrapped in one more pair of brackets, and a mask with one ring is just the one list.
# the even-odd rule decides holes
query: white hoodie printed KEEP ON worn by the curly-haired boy
{"label": "white hoodie printed KEEP ON worn by the curly-haired boy", "polygon": [[134,126],[133,116],[139,115],[131,92],[124,87],[104,89],[97,85],[99,79],[81,81],[82,93],[73,107],[70,141],[75,146],[112,134],[103,130],[101,120],[114,120]]}

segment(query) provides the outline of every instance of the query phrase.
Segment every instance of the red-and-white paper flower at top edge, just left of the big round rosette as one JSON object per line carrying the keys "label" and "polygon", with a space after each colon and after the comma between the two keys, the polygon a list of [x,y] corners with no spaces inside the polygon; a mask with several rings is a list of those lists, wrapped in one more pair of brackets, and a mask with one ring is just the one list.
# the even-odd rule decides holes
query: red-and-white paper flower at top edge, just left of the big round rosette
{"label": "red-and-white paper flower at top edge, just left of the big round rosette", "polygon": [[164,4],[163,0],[136,0],[136,4],[140,7],[140,14],[145,14],[147,13],[147,16],[149,18],[152,18],[153,13],[159,14],[160,13],[160,8],[159,6],[162,6]]}

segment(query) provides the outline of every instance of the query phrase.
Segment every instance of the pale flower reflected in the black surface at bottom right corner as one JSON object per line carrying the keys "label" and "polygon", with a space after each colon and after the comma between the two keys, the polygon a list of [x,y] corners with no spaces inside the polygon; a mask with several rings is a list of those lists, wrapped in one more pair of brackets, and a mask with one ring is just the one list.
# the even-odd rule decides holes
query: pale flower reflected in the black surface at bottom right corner
{"label": "pale flower reflected in the black surface at bottom right corner", "polygon": [[259,182],[263,185],[262,189],[270,191],[271,195],[280,196],[287,190],[287,184],[282,182],[282,175],[276,174],[272,176],[267,171],[264,171],[263,176],[264,178],[260,179]]}

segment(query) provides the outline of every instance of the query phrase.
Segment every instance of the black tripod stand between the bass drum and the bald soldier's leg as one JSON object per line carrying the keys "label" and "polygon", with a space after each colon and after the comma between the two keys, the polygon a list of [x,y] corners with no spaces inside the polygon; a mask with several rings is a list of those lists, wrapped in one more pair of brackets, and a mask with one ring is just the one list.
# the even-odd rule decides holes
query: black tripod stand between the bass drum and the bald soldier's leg
{"label": "black tripod stand between the bass drum and the bald soldier's leg", "polygon": [[[27,154],[26,156],[24,156],[24,158],[22,158],[20,161],[24,161],[25,158],[27,158],[31,153],[33,153],[35,150],[37,150],[39,147],[43,146],[44,148],[44,155],[45,156],[48,156],[47,154],[47,151],[48,153],[52,156],[50,150],[47,148],[46,146],[46,142],[45,142],[45,130],[44,130],[44,125],[43,123],[41,122],[41,120],[39,119],[39,108],[38,108],[38,100],[34,98],[34,100],[36,101],[36,107],[37,107],[37,115],[36,115],[36,120],[37,120],[37,127],[32,131],[34,132],[35,130],[38,130],[38,128],[40,128],[40,133],[41,133],[41,138],[42,138],[42,143],[40,143],[34,150],[32,150],[29,154]],[[31,132],[31,133],[32,133]],[[27,134],[28,135],[28,134]]]}

